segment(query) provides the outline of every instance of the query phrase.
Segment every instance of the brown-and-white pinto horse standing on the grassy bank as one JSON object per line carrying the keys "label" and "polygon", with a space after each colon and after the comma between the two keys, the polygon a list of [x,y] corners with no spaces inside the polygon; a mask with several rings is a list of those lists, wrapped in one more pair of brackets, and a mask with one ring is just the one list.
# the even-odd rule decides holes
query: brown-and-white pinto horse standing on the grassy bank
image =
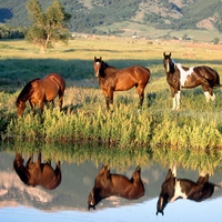
{"label": "brown-and-white pinto horse standing on the grassy bank", "polygon": [[163,53],[163,65],[167,73],[167,81],[173,98],[173,110],[180,109],[181,88],[195,88],[201,85],[206,98],[206,102],[215,99],[214,87],[220,87],[219,73],[210,67],[200,65],[186,68],[175,63],[171,59],[171,53]]}

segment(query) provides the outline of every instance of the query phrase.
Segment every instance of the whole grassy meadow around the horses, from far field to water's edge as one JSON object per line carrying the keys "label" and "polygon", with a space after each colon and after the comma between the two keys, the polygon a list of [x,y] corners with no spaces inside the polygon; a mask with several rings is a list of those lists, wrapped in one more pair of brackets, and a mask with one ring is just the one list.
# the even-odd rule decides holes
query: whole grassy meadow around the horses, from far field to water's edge
{"label": "whole grassy meadow around the horses, from far field to water's edge", "polygon": [[[182,90],[181,110],[172,111],[162,65],[164,51],[184,65],[210,65],[222,80],[222,46],[210,43],[88,37],[42,52],[26,41],[1,41],[1,141],[84,143],[129,152],[149,150],[153,157],[159,157],[155,150],[170,148],[175,153],[211,152],[214,157],[222,148],[221,89],[214,90],[216,99],[211,103],[205,102],[201,88]],[[115,92],[114,110],[107,112],[92,69],[94,57],[117,68],[141,64],[151,70],[141,112],[137,110],[135,89]],[[59,112],[56,100],[56,109],[44,109],[42,117],[32,117],[28,107],[24,117],[17,118],[14,102],[21,89],[29,80],[50,72],[62,74],[67,81],[63,111]]]}

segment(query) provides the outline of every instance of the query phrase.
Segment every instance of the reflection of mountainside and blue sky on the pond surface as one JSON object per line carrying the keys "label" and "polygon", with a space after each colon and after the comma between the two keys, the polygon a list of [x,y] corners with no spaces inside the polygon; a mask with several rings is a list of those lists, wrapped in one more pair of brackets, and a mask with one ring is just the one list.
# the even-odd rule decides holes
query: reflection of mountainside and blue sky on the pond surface
{"label": "reflection of mountainside and blue sky on the pond surface", "polygon": [[[102,200],[95,210],[88,211],[88,196],[103,162],[61,160],[62,182],[54,190],[26,185],[12,170],[16,152],[0,152],[0,218],[1,221],[221,221],[222,189],[215,189],[212,198],[196,203],[178,200],[169,203],[164,215],[155,215],[161,184],[168,167],[150,160],[141,167],[145,194],[130,201],[111,196]],[[37,157],[37,155],[34,155]],[[24,155],[27,160],[28,154]],[[56,162],[52,161],[52,167]],[[137,165],[111,168],[111,172],[131,178]],[[192,169],[178,169],[179,178],[198,180]],[[214,169],[210,181],[222,184],[221,169]]]}

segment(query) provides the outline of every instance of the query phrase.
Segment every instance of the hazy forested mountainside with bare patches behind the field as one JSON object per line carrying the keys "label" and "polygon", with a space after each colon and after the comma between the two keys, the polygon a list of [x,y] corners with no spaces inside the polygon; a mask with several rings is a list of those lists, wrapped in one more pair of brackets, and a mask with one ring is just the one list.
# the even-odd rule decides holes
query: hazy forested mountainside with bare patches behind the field
{"label": "hazy forested mountainside with bare patches behind the field", "polygon": [[[44,10],[53,0],[39,0]],[[0,22],[31,24],[28,0],[1,0]],[[72,14],[72,32],[132,34],[142,30],[212,30],[222,32],[221,0],[60,0]]]}

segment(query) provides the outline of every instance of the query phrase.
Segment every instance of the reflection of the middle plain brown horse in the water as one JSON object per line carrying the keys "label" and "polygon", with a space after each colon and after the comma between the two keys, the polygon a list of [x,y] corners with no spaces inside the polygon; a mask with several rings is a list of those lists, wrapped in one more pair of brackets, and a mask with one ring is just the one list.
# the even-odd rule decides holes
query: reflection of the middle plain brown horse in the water
{"label": "reflection of the middle plain brown horse in the water", "polygon": [[137,200],[144,195],[144,185],[138,167],[129,180],[124,175],[112,174],[108,167],[102,167],[94,180],[94,186],[89,194],[88,209],[93,208],[105,198],[111,195]]}

